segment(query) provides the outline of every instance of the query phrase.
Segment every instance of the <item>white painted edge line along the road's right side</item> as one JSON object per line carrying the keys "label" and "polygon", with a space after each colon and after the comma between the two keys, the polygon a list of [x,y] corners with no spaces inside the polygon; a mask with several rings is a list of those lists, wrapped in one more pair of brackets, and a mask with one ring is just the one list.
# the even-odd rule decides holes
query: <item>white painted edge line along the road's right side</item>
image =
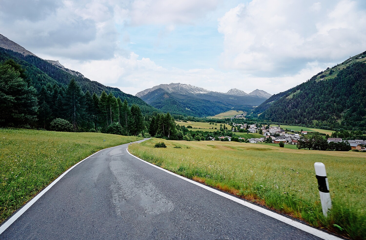
{"label": "white painted edge line along the road's right side", "polygon": [[[128,148],[126,148],[126,151],[128,152]],[[143,161],[144,163],[150,164],[150,165],[152,165],[153,167],[156,167],[156,168],[158,168],[158,169],[160,169],[160,170],[162,170],[162,171],[164,171],[164,172],[167,172],[167,173],[169,173],[169,174],[171,174],[171,175],[173,175],[173,176],[176,176],[176,177],[178,177],[178,178],[181,178],[181,179],[183,179],[183,180],[186,180],[187,182],[190,182],[190,183],[196,184],[196,185],[197,185],[197,186],[199,186],[199,187],[205,188],[205,189],[207,189],[207,190],[209,190],[209,191],[211,191],[211,192],[213,192],[213,193],[219,194],[219,195],[220,195],[220,196],[222,196],[222,197],[225,197],[225,198],[228,198],[228,199],[230,199],[230,200],[232,200],[232,201],[234,201],[234,202],[240,203],[240,204],[242,204],[242,205],[244,205],[244,206],[246,206],[246,207],[249,207],[249,208],[251,208],[251,209],[253,209],[253,210],[256,210],[256,211],[258,211],[258,212],[260,212],[260,213],[263,213],[263,214],[265,214],[265,215],[267,215],[267,216],[269,216],[269,217],[273,217],[273,218],[275,218],[275,219],[277,219],[277,220],[279,220],[279,221],[281,221],[281,222],[284,222],[284,223],[286,223],[286,224],[288,224],[288,225],[294,226],[295,228],[298,228],[298,229],[300,229],[300,230],[302,230],[302,231],[308,232],[308,233],[310,233],[310,234],[312,234],[312,235],[315,235],[315,236],[317,236],[317,237],[320,237],[320,238],[322,238],[322,239],[326,239],[326,240],[343,240],[343,239],[341,239],[341,238],[339,238],[339,237],[336,237],[336,236],[333,236],[333,235],[331,235],[331,234],[329,234],[329,233],[326,233],[326,232],[320,231],[320,230],[318,230],[318,229],[316,229],[316,228],[313,228],[313,227],[308,226],[308,225],[306,225],[306,224],[303,224],[303,223],[301,223],[301,222],[294,221],[294,220],[292,220],[292,219],[290,219],[290,218],[284,217],[284,216],[282,216],[282,215],[280,215],[280,214],[278,214],[278,213],[272,212],[272,211],[270,211],[270,210],[268,210],[268,209],[265,209],[265,208],[263,208],[263,207],[259,207],[259,206],[255,205],[255,204],[253,204],[253,203],[246,202],[246,201],[244,201],[244,200],[242,200],[242,199],[239,199],[239,198],[236,198],[236,197],[234,197],[234,196],[232,196],[232,195],[229,195],[229,194],[223,193],[223,192],[221,192],[221,191],[219,191],[219,190],[217,190],[217,189],[214,189],[214,188],[212,188],[212,187],[206,186],[206,185],[204,185],[204,184],[202,184],[202,183],[198,183],[198,182],[195,182],[195,181],[193,181],[193,180],[191,180],[191,179],[189,179],[189,178],[185,178],[185,177],[183,177],[183,176],[180,176],[180,175],[178,175],[178,174],[175,174],[175,173],[173,173],[173,172],[171,172],[171,171],[168,171],[167,169],[164,169],[164,168],[158,167],[157,165],[154,165],[154,164],[149,163],[149,162],[147,162],[147,161],[145,161],[145,160],[142,160],[141,158],[139,158],[139,157],[137,157],[137,156],[135,156],[135,155],[131,154],[130,152],[128,152],[128,154],[130,154],[131,156],[134,156],[134,157],[135,157],[135,158],[137,158],[138,160]]]}

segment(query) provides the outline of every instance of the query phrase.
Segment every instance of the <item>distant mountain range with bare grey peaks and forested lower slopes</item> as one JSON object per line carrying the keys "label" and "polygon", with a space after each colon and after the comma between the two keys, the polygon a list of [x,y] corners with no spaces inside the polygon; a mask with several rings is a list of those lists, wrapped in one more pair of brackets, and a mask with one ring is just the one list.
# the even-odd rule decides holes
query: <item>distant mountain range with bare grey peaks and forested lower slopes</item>
{"label": "distant mountain range with bare grey peaks and forested lower slopes", "polygon": [[206,117],[230,109],[248,111],[272,95],[258,89],[250,94],[236,88],[222,93],[190,84],[171,83],[145,89],[135,96],[164,112]]}

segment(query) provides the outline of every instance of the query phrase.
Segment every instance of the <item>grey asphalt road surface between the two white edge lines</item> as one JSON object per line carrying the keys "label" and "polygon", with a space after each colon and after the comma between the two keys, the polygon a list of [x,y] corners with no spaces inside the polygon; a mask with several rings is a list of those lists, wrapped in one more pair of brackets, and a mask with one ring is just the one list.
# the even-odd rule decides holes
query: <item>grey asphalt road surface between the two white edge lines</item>
{"label": "grey asphalt road surface between the two white edge lines", "polygon": [[320,239],[130,156],[71,169],[0,239]]}

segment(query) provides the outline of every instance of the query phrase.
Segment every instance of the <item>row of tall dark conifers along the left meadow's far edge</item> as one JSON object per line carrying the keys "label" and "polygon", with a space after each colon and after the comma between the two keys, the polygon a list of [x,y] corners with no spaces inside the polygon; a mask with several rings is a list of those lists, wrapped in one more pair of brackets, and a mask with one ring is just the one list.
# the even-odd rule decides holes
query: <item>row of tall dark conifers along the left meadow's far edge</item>
{"label": "row of tall dark conifers along the left meadow's far edge", "polygon": [[50,130],[54,119],[66,119],[76,132],[107,132],[118,123],[124,135],[137,135],[145,127],[145,117],[137,104],[130,107],[112,92],[100,95],[81,91],[75,79],[67,87],[42,85],[37,91],[27,81],[25,70],[9,59],[0,64],[0,125],[37,127]]}

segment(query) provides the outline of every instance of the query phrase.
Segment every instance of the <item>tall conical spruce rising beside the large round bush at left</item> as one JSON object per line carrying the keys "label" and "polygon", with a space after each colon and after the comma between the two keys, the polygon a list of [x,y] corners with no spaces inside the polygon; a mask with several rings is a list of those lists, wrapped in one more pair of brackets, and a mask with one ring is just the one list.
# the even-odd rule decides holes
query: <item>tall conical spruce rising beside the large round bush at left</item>
{"label": "tall conical spruce rising beside the large round bush at left", "polygon": [[81,88],[75,79],[71,79],[64,96],[64,110],[67,119],[73,125],[74,131],[79,130],[79,123],[82,121],[84,108]]}

